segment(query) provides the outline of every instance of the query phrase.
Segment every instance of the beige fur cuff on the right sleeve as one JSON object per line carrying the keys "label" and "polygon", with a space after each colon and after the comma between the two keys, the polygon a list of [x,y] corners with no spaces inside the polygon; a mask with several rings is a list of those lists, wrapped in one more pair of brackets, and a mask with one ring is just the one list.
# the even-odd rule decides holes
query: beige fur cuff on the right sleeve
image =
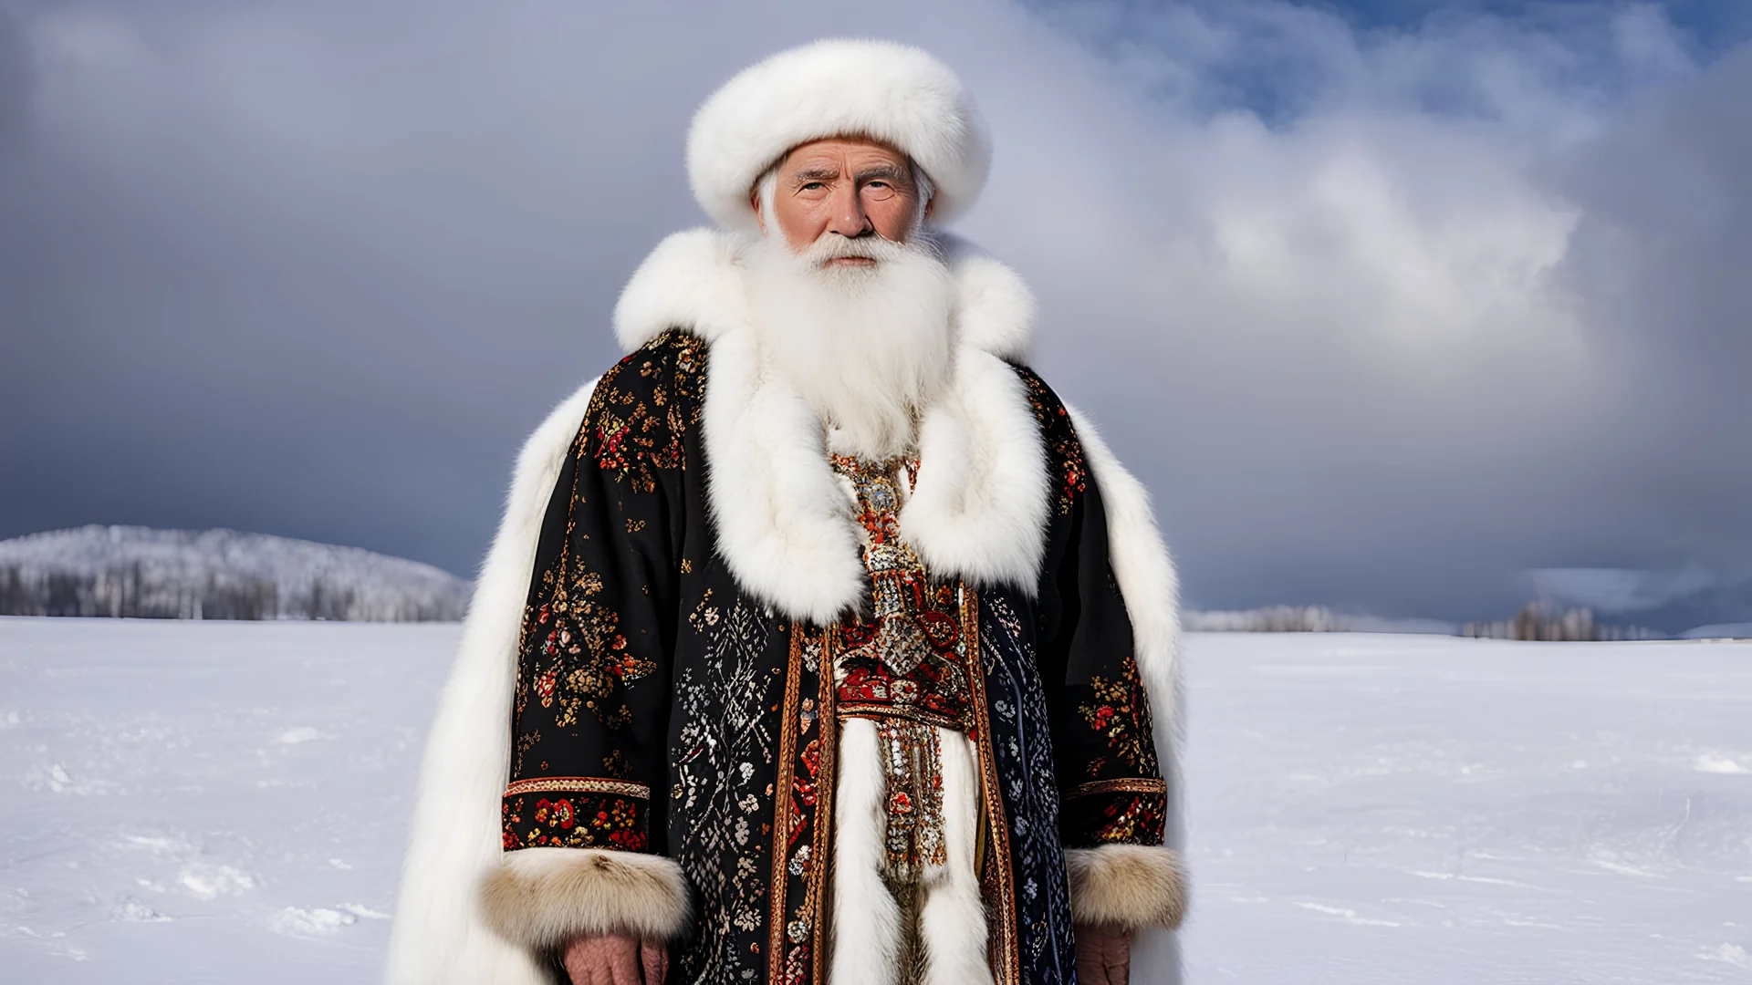
{"label": "beige fur cuff on the right sleeve", "polygon": [[1186,915],[1186,875],[1174,848],[1067,848],[1065,871],[1070,876],[1070,917],[1077,924],[1172,931]]}

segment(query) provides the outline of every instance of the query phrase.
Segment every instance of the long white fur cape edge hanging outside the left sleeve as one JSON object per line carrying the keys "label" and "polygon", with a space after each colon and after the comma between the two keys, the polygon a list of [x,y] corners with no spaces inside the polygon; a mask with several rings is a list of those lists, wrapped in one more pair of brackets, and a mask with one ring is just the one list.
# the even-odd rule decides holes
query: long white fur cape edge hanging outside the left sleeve
{"label": "long white fur cape edge hanging outside the left sleeve", "polygon": [[499,794],[512,766],[508,713],[517,634],[548,494],[596,384],[536,428],[517,456],[505,519],[475,582],[450,680],[438,699],[384,978],[391,985],[541,985],[526,948],[487,931],[477,882],[499,864]]}

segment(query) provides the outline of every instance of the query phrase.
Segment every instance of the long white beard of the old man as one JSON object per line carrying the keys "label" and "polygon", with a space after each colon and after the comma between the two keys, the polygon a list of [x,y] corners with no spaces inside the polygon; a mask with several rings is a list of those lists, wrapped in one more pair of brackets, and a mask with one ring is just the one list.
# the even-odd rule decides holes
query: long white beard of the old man
{"label": "long white beard of the old man", "polygon": [[[834,256],[876,265],[822,266]],[[748,273],[766,361],[822,415],[829,449],[909,454],[955,361],[955,284],[936,240],[825,235],[794,254],[774,231],[750,251]]]}

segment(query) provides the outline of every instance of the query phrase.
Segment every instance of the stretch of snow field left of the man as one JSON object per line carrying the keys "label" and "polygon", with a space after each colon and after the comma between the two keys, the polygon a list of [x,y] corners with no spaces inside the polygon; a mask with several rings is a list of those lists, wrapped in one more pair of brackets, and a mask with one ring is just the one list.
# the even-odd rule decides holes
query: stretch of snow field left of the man
{"label": "stretch of snow field left of the man", "polygon": [[373,981],[456,638],[0,619],[0,981]]}

